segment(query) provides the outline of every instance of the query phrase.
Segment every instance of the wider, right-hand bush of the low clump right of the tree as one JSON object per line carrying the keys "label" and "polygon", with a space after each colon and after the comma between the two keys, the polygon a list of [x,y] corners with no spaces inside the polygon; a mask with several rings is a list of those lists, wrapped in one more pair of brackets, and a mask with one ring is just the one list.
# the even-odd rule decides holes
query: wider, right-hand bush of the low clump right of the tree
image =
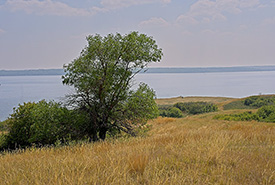
{"label": "wider, right-hand bush of the low clump right of the tree", "polygon": [[215,112],[218,110],[217,105],[208,102],[176,103],[174,107],[179,108],[187,114],[202,114],[207,112]]}

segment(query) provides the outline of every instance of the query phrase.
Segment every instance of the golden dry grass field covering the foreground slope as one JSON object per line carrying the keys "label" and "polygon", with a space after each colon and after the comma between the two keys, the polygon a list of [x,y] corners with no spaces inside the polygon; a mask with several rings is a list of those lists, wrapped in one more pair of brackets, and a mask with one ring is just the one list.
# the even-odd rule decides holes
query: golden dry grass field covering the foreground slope
{"label": "golden dry grass field covering the foreground slope", "polygon": [[[233,100],[206,99],[219,105]],[[145,137],[7,153],[0,156],[0,184],[273,185],[275,124],[212,119],[240,111],[159,117]]]}

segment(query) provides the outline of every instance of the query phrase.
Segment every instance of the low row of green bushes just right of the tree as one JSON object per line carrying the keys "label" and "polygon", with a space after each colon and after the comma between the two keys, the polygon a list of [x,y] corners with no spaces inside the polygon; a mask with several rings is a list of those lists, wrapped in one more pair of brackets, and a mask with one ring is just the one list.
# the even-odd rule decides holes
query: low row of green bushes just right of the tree
{"label": "low row of green bushes just right of the tree", "polygon": [[195,115],[217,111],[217,105],[207,102],[186,102],[176,103],[173,106],[159,106],[159,113],[162,117],[180,118],[184,115]]}

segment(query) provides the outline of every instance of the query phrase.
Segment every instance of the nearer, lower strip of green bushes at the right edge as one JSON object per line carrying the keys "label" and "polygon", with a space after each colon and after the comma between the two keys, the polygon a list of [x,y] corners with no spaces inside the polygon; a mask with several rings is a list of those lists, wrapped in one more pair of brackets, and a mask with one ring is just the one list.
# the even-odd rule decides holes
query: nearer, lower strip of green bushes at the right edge
{"label": "nearer, lower strip of green bushes at the right edge", "polygon": [[275,123],[275,105],[263,106],[256,113],[243,112],[239,114],[222,114],[214,116],[214,119],[228,121],[262,121]]}

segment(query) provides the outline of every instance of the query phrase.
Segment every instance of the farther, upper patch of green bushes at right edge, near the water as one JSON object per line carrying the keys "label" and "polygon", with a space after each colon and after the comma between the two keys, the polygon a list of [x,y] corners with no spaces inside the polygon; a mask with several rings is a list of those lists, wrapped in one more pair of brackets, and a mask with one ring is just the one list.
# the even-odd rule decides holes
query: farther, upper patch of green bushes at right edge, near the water
{"label": "farther, upper patch of green bushes at right edge, near the water", "polygon": [[274,105],[275,96],[250,96],[244,100],[237,100],[224,105],[224,110],[229,109],[257,109],[266,105]]}

